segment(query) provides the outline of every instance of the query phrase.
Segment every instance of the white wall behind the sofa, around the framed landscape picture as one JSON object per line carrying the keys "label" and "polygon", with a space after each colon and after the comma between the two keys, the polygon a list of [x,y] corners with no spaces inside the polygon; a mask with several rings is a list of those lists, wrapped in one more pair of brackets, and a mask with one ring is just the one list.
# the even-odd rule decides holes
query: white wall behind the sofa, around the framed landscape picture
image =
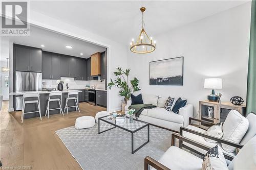
{"label": "white wall behind the sofa, around the framed landscape picture", "polygon": [[[140,80],[142,93],[183,96],[198,112],[198,101],[210,94],[204,78],[223,79],[222,101],[234,95],[246,99],[249,54],[250,3],[189,23],[156,36],[156,51],[139,55],[128,52],[128,66]],[[184,56],[183,86],[150,86],[150,61]]]}

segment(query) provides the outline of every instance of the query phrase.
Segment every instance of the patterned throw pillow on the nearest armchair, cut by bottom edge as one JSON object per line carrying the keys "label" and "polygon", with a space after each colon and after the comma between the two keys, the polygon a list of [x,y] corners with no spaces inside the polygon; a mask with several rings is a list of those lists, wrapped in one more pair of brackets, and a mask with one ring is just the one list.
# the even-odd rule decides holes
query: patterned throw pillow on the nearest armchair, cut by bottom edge
{"label": "patterned throw pillow on the nearest armchair, cut by bottom edge", "polygon": [[228,170],[225,157],[217,144],[204,156],[202,170]]}

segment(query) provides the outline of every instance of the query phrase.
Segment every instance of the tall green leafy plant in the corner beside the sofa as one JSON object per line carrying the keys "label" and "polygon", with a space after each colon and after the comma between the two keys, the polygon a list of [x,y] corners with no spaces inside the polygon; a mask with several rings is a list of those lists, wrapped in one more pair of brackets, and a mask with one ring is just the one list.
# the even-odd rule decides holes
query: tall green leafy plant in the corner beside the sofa
{"label": "tall green leafy plant in the corner beside the sofa", "polygon": [[131,94],[140,90],[139,79],[135,77],[133,80],[130,80],[129,83],[128,77],[131,69],[122,70],[122,67],[117,67],[116,69],[114,75],[117,79],[114,81],[111,79],[110,83],[108,83],[108,87],[109,89],[111,89],[112,86],[119,88],[119,95],[123,96],[124,99],[124,103],[122,104],[122,111],[124,111],[124,107],[126,106],[127,101],[130,100]]}

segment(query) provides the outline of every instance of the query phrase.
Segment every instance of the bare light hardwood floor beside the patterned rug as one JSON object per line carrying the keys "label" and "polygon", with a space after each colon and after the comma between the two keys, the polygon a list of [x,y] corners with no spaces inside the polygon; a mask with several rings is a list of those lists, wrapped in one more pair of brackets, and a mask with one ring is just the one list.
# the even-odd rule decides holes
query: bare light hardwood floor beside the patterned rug
{"label": "bare light hardwood floor beside the patterned rug", "polygon": [[[103,107],[80,103],[79,112],[50,115],[48,119],[25,119],[20,123],[21,111],[8,113],[3,102],[0,113],[0,158],[3,167],[32,166],[32,169],[81,169],[61,142],[55,131],[74,126],[79,116],[95,116]],[[44,113],[42,113],[44,114]]]}

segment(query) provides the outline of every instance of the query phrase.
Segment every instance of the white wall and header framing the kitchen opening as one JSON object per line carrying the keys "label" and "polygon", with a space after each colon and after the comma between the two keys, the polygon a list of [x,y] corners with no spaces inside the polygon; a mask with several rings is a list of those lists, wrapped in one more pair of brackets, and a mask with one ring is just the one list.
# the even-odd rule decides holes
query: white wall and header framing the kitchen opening
{"label": "white wall and header framing the kitchen opening", "polygon": [[[80,17],[80,16],[74,16],[74,17]],[[111,75],[111,78],[114,78],[114,75],[112,74],[112,72],[115,70],[116,67],[121,66],[123,68],[126,68],[127,51],[126,51],[126,47],[120,43],[98,36],[94,33],[88,32],[86,30],[75,27],[63,21],[54,19],[52,17],[43,15],[41,13],[33,11],[33,9],[31,10],[30,18],[28,19],[28,21],[35,26],[50,29],[65,35],[76,37],[81,40],[86,40],[98,45],[109,47],[108,57],[110,57],[111,62],[109,62],[110,60],[108,60],[108,75]],[[13,56],[10,57],[10,62],[12,62],[12,60],[13,60]],[[10,76],[10,82],[11,81],[13,81],[12,76]],[[110,76],[108,76],[108,81],[110,81]],[[10,88],[12,89],[12,87]],[[110,103],[111,105],[109,105],[108,103],[108,110],[109,111],[121,110],[122,98],[118,95],[118,89],[112,88],[112,90],[108,90],[108,96],[109,96],[109,99],[111,99],[111,103]],[[13,101],[11,100],[11,98],[9,102],[9,110],[10,111],[13,110]]]}

